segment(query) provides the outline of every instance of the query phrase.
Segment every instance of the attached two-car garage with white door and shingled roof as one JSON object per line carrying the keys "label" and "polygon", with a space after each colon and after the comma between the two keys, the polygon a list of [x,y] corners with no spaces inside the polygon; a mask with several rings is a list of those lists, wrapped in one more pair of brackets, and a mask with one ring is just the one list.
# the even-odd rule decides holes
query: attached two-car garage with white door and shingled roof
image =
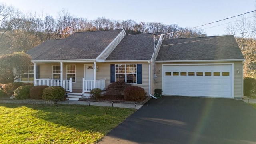
{"label": "attached two-car garage with white door and shingled roof", "polygon": [[163,40],[156,54],[163,95],[242,99],[244,56],[234,36]]}

